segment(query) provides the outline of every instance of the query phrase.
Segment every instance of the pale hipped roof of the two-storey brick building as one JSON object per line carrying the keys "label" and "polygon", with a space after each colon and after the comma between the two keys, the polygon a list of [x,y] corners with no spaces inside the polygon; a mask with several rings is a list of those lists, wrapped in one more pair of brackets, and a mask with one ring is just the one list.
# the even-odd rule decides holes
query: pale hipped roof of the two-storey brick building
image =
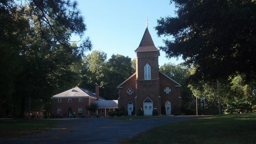
{"label": "pale hipped roof of the two-storey brick building", "polygon": [[[68,97],[96,97],[96,95],[88,90],[82,89],[80,87],[74,87],[65,92],[59,93],[57,95],[52,96],[52,98],[68,98]],[[105,100],[102,97],[99,97],[100,100]]]}

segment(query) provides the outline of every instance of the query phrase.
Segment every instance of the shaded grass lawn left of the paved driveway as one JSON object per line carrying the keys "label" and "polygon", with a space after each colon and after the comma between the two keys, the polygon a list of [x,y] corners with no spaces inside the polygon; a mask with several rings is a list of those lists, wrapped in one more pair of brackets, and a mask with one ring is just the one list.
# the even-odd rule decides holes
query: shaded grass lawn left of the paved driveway
{"label": "shaded grass lawn left of the paved driveway", "polygon": [[24,119],[0,120],[0,139],[43,132],[61,122],[63,121],[47,119],[31,119],[30,121]]}

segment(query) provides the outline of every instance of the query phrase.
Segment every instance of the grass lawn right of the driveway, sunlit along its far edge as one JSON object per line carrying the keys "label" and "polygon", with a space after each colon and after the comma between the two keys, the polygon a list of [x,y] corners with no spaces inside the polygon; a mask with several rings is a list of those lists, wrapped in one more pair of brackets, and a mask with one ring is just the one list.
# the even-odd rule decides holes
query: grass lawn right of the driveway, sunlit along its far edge
{"label": "grass lawn right of the driveway, sunlit along its far edge", "polygon": [[121,139],[120,143],[256,143],[256,113],[172,122]]}

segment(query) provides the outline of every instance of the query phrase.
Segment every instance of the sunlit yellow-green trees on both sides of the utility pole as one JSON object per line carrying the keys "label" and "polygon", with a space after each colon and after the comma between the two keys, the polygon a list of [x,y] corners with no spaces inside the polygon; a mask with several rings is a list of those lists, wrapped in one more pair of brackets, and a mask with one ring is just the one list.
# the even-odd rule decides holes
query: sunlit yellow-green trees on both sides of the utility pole
{"label": "sunlit yellow-green trees on both sides of the utility pole", "polygon": [[[219,83],[220,94],[222,95],[222,108],[225,112],[252,112],[256,109],[255,82],[246,83],[243,75],[230,76]],[[201,99],[201,107],[205,110],[217,108],[218,100],[215,81],[200,81],[196,84],[189,84],[190,90],[196,97]],[[205,100],[205,101],[203,101]]]}

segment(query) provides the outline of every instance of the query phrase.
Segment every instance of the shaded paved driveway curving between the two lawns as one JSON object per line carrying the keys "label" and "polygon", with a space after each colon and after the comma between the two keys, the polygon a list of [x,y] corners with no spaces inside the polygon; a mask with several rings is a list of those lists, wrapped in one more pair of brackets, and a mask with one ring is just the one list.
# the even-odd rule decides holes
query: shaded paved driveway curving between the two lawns
{"label": "shaded paved driveway curving between the two lawns", "polygon": [[64,120],[54,129],[19,139],[2,140],[0,143],[86,143],[112,144],[118,139],[132,137],[158,125],[196,118],[196,116],[161,117],[149,119],[76,118]]}

